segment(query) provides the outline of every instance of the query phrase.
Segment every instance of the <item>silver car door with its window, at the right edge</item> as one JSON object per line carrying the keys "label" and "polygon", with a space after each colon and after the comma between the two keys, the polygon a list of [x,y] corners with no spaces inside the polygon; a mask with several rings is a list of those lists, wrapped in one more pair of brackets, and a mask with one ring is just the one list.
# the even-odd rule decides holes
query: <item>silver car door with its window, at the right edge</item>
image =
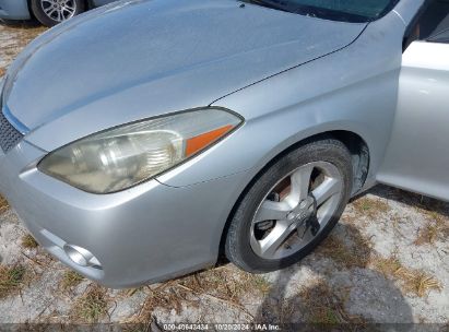
{"label": "silver car door with its window, at the right edge", "polygon": [[449,1],[433,1],[413,24],[378,180],[449,201]]}

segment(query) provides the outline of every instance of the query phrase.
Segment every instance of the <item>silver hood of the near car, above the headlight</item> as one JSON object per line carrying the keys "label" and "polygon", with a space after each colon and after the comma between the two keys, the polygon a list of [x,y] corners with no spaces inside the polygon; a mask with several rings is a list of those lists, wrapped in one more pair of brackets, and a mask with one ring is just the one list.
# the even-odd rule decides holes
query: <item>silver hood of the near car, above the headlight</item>
{"label": "silver hood of the near car, above the headlight", "polygon": [[[7,73],[3,104],[52,149],[210,105],[347,46],[364,27],[235,0],[116,2],[33,42]],[[39,129],[49,123],[71,132],[45,139]]]}

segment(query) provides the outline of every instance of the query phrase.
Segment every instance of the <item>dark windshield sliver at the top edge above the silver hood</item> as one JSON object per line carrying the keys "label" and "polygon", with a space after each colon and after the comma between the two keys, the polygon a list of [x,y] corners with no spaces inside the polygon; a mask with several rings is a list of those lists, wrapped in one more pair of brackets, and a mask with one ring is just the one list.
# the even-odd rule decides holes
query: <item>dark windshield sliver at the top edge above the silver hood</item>
{"label": "dark windshield sliver at the top edge above the silver hood", "polygon": [[383,16],[399,0],[243,0],[307,16],[369,22]]}

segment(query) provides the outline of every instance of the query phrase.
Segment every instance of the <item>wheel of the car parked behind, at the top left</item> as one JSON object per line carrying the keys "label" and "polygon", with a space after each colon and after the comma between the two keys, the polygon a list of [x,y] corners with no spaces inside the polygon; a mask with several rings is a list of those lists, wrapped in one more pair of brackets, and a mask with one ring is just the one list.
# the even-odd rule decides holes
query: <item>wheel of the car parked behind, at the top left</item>
{"label": "wheel of the car parked behind, at the top left", "polygon": [[85,0],[31,0],[31,10],[42,24],[55,26],[84,12]]}

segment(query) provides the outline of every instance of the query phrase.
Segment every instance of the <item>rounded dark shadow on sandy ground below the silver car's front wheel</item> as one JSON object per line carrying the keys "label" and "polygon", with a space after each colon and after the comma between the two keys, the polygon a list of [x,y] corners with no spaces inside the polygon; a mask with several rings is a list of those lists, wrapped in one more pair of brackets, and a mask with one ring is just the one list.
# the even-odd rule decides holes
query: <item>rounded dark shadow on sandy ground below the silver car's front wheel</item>
{"label": "rounded dark shadow on sandy ground below the silver car's front wheel", "polygon": [[[366,240],[353,226],[340,224],[336,227],[339,234],[347,237],[348,242],[365,244]],[[326,254],[328,259],[334,260],[335,269],[341,271],[340,278],[347,277],[347,282],[339,281],[339,277],[329,280],[330,275],[326,270],[308,257],[298,265],[310,270],[316,276],[311,286],[304,286],[298,293],[290,295],[292,292],[288,286],[298,265],[280,271],[258,309],[255,323],[298,324],[292,325],[292,330],[306,327],[317,331],[348,330],[368,327],[375,316],[377,317],[381,311],[386,316],[386,321],[413,322],[412,309],[401,290],[378,271],[368,268],[371,256],[369,246],[348,247],[347,250],[352,250],[352,253],[357,257],[350,262],[344,261],[344,257],[340,256],[341,249],[334,248],[335,251],[332,253],[332,244],[334,244],[332,240],[324,240],[323,247],[317,249],[318,258],[321,259],[320,256]],[[343,272],[347,268],[352,269],[350,274]],[[354,308],[354,305],[358,308]]]}

